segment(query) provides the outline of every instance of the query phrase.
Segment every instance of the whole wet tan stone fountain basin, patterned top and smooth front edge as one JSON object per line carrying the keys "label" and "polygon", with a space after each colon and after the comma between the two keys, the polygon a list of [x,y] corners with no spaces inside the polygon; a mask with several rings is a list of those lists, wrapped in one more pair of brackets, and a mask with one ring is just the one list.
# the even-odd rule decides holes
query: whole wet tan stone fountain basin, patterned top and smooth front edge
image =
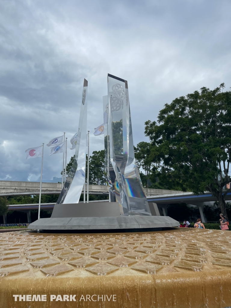
{"label": "whole wet tan stone fountain basin, patterned top and smooth front edge", "polygon": [[[230,289],[229,231],[0,234],[2,308],[221,308],[231,305]],[[45,294],[47,301],[15,302],[19,294]],[[76,301],[51,302],[50,295]]]}

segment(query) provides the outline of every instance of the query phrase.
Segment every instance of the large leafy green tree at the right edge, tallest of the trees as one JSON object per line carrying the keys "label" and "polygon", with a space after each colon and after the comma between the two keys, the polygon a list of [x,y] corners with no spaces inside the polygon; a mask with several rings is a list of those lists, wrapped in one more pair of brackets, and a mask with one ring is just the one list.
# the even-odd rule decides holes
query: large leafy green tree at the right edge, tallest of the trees
{"label": "large leafy green tree at the right edge, tallest of the trees", "polygon": [[151,141],[150,159],[162,178],[184,191],[211,192],[227,217],[231,91],[222,92],[224,87],[203,87],[174,99],[160,111],[157,123],[145,123],[145,134]]}

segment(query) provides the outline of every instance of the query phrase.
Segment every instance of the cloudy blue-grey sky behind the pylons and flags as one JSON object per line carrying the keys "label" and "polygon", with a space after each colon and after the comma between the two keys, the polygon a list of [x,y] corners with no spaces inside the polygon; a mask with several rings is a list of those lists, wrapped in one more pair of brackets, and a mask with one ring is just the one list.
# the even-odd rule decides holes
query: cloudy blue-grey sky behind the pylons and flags
{"label": "cloudy blue-grey sky behind the pylons and flags", "polygon": [[[231,87],[230,0],[1,0],[0,180],[39,180],[25,150],[79,123],[88,80],[90,152],[103,123],[107,73],[128,80],[134,144],[165,103],[201,87]],[[62,155],[45,147],[43,179],[60,177]]]}

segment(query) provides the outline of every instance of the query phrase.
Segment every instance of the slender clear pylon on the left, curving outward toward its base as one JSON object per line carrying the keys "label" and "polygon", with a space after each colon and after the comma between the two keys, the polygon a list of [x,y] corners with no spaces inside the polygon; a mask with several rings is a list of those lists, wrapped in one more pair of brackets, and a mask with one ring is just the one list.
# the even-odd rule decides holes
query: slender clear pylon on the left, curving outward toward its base
{"label": "slender clear pylon on the left, curving outward toward its base", "polygon": [[86,140],[87,140],[87,80],[84,79],[83,95],[79,115],[79,128],[75,159],[67,176],[57,204],[78,203],[82,193],[86,171]]}

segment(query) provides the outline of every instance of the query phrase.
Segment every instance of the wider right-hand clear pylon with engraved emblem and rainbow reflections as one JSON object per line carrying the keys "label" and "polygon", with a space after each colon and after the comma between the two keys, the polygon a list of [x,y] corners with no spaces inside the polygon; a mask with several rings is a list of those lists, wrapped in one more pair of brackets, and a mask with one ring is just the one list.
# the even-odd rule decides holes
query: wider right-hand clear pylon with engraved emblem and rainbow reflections
{"label": "wider right-hand clear pylon with engraved emblem and rainbow reflections", "polygon": [[109,154],[117,180],[116,201],[124,215],[151,215],[135,161],[128,82],[108,74],[107,86]]}

